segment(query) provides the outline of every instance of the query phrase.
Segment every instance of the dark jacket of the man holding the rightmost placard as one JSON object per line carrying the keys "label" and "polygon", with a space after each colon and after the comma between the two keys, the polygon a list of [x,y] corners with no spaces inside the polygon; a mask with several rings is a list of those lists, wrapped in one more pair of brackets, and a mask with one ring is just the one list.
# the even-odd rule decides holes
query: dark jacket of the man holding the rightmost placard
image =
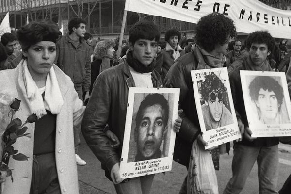
{"label": "dark jacket of the man holding the rightmost placard", "polygon": [[[242,123],[248,126],[248,121],[246,117],[246,112],[244,108],[244,101],[242,96],[242,83],[240,70],[246,70],[245,64],[247,60],[244,60],[241,65],[236,66],[233,70],[229,72],[229,82],[231,88],[231,95],[233,99],[234,108],[237,114],[238,121],[241,120]],[[242,138],[241,142],[234,142],[237,144],[242,144],[245,146],[274,146],[279,143],[278,137],[259,137],[254,141],[250,142]]]}

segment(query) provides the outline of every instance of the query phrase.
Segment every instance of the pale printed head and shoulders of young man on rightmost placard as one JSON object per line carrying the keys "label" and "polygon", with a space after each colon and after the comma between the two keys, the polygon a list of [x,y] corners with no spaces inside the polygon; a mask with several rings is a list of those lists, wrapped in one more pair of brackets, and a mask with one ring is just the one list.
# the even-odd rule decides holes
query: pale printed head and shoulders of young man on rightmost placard
{"label": "pale printed head and shoulders of young man on rightmost placard", "polygon": [[249,92],[256,105],[260,123],[289,123],[281,113],[284,93],[278,81],[269,76],[257,76],[251,81]]}

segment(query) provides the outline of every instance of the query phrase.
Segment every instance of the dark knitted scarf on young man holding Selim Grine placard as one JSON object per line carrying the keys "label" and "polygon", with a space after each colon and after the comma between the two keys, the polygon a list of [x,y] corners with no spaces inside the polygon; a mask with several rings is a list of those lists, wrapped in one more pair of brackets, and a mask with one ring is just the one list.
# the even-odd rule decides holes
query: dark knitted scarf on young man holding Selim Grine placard
{"label": "dark knitted scarf on young man holding Selim Grine placard", "polygon": [[126,61],[128,62],[129,66],[131,66],[136,72],[139,73],[148,73],[154,70],[154,62],[152,61],[149,65],[145,66],[137,59],[133,58],[132,51],[129,51],[126,54]]}

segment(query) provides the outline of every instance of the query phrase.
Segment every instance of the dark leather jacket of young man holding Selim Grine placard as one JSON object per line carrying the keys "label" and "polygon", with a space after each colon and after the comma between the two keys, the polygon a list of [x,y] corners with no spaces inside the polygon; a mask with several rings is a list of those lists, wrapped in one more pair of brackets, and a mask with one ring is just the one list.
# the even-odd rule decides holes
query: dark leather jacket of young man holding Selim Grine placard
{"label": "dark leather jacket of young man holding Selim Grine placard", "polygon": [[[162,87],[156,70],[152,72],[154,87]],[[109,129],[123,143],[129,87],[135,87],[127,62],[100,73],[97,77],[82,122],[83,136],[100,160],[105,175],[110,178],[114,164],[120,162],[122,146],[113,148],[103,129]]]}

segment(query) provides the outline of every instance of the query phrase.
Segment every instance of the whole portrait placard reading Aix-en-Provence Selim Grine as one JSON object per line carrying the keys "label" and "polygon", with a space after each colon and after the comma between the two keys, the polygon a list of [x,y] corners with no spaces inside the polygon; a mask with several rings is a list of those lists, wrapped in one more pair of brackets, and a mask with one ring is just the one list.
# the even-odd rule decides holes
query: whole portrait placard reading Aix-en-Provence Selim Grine
{"label": "whole portrait placard reading Aix-en-Provence Selim Grine", "polygon": [[178,88],[129,88],[121,177],[172,169],[179,92]]}

